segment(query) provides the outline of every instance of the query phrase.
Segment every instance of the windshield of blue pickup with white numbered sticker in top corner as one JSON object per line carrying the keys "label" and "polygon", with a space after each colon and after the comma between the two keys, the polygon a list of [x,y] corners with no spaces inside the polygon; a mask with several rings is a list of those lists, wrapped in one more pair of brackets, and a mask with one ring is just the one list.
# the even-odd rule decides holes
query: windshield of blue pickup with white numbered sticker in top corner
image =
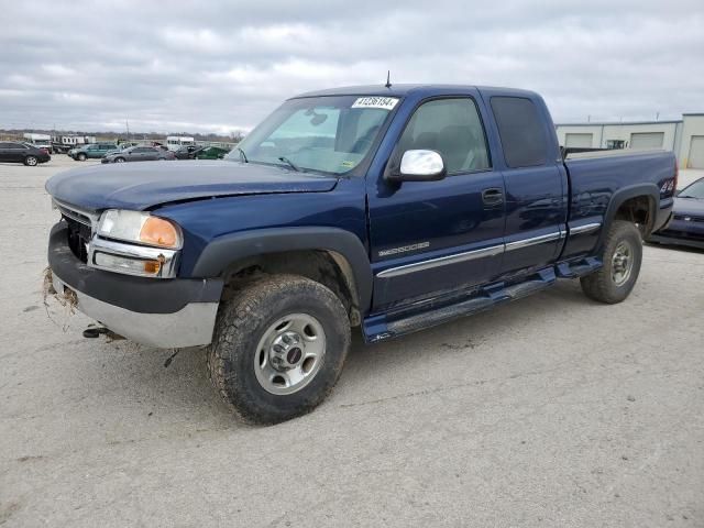
{"label": "windshield of blue pickup with white numbered sticker in top corner", "polygon": [[[393,97],[311,97],[282,105],[226,156],[295,170],[342,174],[366,156]],[[242,155],[242,152],[244,155]]]}

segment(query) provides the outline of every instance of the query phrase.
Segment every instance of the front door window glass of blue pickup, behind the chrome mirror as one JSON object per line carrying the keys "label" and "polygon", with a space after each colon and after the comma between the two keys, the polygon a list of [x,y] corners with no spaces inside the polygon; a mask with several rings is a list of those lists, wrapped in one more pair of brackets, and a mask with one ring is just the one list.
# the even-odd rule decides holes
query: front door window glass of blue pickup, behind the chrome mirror
{"label": "front door window glass of blue pickup, behind the chrome mirror", "polygon": [[437,151],[448,174],[491,167],[486,136],[476,105],[469,98],[437,99],[418,107],[399,140],[399,155]]}

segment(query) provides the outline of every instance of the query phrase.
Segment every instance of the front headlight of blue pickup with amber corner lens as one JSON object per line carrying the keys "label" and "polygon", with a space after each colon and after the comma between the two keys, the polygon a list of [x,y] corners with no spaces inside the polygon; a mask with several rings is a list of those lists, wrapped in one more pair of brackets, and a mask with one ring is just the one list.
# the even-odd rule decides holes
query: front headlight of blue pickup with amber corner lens
{"label": "front headlight of blue pickup with amber corner lens", "polygon": [[100,217],[98,234],[108,239],[179,250],[184,244],[180,229],[147,212],[108,209]]}

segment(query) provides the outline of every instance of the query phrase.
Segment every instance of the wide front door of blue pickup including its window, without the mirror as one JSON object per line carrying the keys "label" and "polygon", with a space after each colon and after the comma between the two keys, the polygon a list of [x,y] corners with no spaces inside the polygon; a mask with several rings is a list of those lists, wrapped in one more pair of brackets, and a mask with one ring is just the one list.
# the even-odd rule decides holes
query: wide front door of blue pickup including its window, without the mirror
{"label": "wide front door of blue pickup including its window, without the mirror", "polygon": [[444,161],[439,182],[367,178],[374,309],[470,288],[498,274],[504,183],[492,168],[477,99],[426,99],[413,110],[386,170],[404,152]]}

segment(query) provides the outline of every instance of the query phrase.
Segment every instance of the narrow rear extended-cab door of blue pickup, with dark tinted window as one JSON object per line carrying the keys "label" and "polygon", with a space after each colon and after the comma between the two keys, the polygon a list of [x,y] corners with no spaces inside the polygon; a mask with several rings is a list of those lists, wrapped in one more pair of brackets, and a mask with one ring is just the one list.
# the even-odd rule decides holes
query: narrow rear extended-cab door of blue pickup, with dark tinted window
{"label": "narrow rear extended-cab door of blue pickup, with dark tinted window", "polygon": [[565,235],[566,175],[539,98],[490,97],[503,150],[506,253],[502,274],[552,263]]}

